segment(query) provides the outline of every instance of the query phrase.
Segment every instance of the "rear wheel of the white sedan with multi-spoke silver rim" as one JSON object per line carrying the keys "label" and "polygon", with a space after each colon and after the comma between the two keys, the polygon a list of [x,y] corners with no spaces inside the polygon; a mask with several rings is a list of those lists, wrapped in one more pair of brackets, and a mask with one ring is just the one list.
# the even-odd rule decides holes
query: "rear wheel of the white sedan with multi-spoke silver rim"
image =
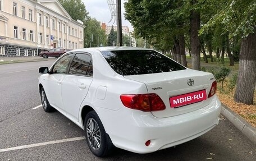
{"label": "rear wheel of the white sedan with multi-spoke silver rim", "polygon": [[108,134],[106,134],[102,122],[95,111],[90,111],[86,114],[84,129],[86,142],[94,155],[104,157],[113,151],[115,146]]}

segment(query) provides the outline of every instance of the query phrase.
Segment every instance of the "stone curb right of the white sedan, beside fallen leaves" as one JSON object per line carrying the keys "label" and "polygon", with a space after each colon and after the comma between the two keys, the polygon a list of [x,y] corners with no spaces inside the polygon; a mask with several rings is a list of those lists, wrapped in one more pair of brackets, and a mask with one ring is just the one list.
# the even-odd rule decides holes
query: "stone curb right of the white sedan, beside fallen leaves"
{"label": "stone curb right of the white sedan, beside fallen leaves", "polygon": [[250,125],[245,119],[225,104],[221,104],[221,113],[232,122],[245,136],[247,136],[254,144],[256,144],[256,128]]}

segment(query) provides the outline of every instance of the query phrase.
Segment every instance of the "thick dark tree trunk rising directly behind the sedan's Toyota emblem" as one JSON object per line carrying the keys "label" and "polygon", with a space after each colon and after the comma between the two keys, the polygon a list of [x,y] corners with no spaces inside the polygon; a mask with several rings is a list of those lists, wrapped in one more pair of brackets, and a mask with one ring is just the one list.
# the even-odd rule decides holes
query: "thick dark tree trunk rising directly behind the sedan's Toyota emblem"
{"label": "thick dark tree trunk rising directly behind the sedan's Toyota emblem", "polygon": [[[197,3],[192,0],[191,4]],[[195,10],[190,11],[190,44],[191,44],[191,63],[194,70],[201,70],[200,67],[200,41],[198,30],[200,26],[200,15]]]}

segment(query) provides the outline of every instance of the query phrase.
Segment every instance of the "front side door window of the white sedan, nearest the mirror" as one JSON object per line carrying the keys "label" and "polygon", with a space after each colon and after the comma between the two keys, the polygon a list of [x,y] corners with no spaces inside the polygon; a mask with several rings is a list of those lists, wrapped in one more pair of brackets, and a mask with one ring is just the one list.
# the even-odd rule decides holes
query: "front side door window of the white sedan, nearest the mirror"
{"label": "front side door window of the white sedan, nearest the mirror", "polygon": [[68,65],[71,61],[73,54],[68,54],[62,57],[53,67],[53,73],[67,73]]}

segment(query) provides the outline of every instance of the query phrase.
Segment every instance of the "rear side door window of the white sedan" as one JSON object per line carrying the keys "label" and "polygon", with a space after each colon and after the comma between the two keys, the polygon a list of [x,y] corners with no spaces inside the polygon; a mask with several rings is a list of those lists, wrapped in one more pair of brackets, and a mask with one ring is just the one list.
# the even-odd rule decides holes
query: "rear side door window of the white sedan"
{"label": "rear side door window of the white sedan", "polygon": [[89,54],[77,53],[71,62],[68,73],[82,76],[93,76],[93,63]]}

